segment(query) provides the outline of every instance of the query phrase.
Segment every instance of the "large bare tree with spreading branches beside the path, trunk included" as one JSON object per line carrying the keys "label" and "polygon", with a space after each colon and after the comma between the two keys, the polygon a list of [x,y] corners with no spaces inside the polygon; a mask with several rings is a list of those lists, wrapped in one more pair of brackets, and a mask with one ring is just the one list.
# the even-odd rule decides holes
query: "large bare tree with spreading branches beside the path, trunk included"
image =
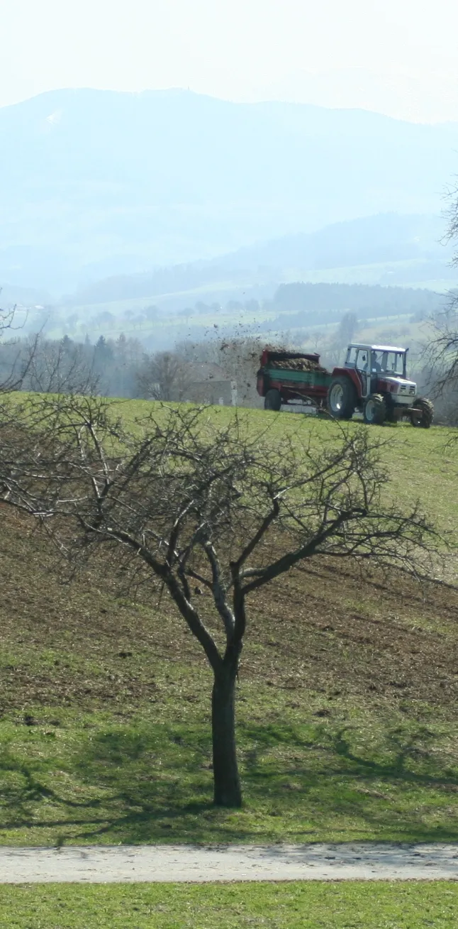
{"label": "large bare tree with spreading branches beside the path, trunk included", "polygon": [[107,546],[114,570],[118,552],[196,636],[213,673],[217,805],[242,801],[235,685],[261,587],[322,557],[425,569],[433,530],[417,506],[388,503],[363,427],[325,439],[302,423],[275,438],[249,416],[222,426],[189,407],[123,425],[108,401],[77,397],[4,410],[0,427],[0,498],[39,519],[71,563]]}

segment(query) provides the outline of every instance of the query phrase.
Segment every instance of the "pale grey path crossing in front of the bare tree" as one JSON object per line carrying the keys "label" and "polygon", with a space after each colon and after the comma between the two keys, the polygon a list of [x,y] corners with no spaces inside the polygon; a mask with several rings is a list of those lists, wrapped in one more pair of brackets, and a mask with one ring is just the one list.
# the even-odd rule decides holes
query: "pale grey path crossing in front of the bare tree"
{"label": "pale grey path crossing in front of the bare tree", "polygon": [[458,844],[0,847],[0,883],[458,880]]}

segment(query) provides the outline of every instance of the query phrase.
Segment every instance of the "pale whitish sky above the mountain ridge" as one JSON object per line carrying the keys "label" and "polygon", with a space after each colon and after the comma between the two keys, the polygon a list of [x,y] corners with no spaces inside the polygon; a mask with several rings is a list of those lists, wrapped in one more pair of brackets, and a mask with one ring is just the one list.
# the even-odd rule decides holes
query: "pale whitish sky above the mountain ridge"
{"label": "pale whitish sky above the mountain ridge", "polygon": [[0,106],[59,87],[458,121],[456,0],[0,0]]}

